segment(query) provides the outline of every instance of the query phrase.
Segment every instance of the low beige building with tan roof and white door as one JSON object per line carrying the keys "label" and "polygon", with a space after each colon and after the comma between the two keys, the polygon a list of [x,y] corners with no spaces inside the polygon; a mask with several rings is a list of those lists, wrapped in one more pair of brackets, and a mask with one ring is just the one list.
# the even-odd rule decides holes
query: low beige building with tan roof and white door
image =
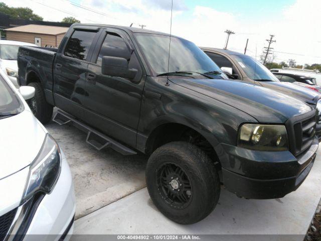
{"label": "low beige building with tan roof and white door", "polygon": [[36,44],[41,47],[58,47],[68,28],[29,24],[6,29],[7,40]]}

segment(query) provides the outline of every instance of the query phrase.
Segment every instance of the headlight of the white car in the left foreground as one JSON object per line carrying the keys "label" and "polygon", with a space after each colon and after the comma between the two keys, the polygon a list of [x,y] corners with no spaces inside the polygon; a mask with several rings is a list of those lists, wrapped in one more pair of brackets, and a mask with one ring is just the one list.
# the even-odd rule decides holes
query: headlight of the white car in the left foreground
{"label": "headlight of the white car in the left foreground", "polygon": [[49,194],[56,184],[61,169],[61,154],[56,141],[47,134],[44,144],[33,163],[22,202],[38,192]]}

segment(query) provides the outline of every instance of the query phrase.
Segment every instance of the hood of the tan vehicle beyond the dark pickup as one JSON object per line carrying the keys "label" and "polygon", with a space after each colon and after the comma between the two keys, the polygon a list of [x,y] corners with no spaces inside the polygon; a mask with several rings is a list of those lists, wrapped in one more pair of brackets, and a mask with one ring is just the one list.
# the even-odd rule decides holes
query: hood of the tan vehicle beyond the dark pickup
{"label": "hood of the tan vehicle beyond the dark pickup", "polygon": [[273,89],[283,94],[298,98],[308,104],[316,104],[317,100],[321,98],[321,95],[316,91],[298,84],[273,81],[259,81],[259,83],[265,88]]}

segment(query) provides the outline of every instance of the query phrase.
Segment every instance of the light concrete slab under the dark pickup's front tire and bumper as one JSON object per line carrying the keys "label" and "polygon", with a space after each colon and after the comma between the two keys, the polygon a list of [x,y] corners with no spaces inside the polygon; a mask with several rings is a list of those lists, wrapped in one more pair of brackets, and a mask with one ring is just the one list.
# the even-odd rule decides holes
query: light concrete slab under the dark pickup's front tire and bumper
{"label": "light concrete slab under the dark pickup's front tire and bumper", "polygon": [[320,197],[321,149],[303,184],[283,198],[246,200],[223,189],[219,204],[207,218],[180,225],[155,208],[144,188],[76,220],[74,234],[292,234],[290,239],[281,239],[302,240]]}

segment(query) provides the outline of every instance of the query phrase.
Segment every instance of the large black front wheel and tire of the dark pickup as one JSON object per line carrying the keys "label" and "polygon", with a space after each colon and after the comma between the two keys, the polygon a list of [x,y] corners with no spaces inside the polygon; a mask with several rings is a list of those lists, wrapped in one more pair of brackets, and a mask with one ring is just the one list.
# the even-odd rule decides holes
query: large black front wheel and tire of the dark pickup
{"label": "large black front wheel and tire of the dark pickup", "polygon": [[172,142],[156,149],[146,167],[148,193],[171,220],[191,224],[208,216],[220,196],[214,163],[198,147]]}

